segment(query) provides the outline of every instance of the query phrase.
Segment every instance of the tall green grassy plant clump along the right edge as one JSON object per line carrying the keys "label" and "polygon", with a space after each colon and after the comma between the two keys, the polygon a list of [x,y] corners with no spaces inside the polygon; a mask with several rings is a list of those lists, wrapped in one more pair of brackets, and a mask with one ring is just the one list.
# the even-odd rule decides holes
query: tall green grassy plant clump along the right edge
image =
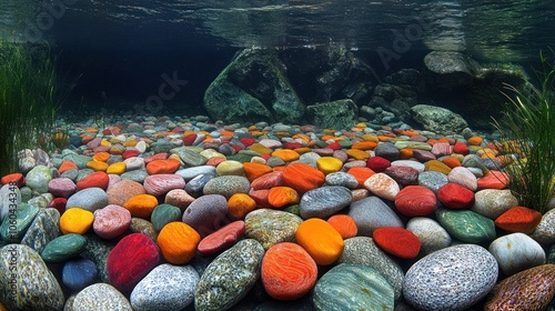
{"label": "tall green grassy plant clump along the right edge", "polygon": [[508,107],[494,126],[506,154],[507,188],[519,204],[545,213],[555,195],[555,61],[542,52],[539,59],[539,86],[517,90],[506,84],[513,97],[504,93]]}

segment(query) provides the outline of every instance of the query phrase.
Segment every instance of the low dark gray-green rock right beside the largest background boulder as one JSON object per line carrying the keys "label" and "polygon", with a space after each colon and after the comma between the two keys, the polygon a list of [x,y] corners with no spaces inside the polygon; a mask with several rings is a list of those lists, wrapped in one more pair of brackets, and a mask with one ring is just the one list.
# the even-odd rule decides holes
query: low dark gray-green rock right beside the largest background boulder
{"label": "low dark gray-green rock right beside the largest background boulder", "polygon": [[359,108],[350,99],[321,102],[306,107],[309,122],[319,128],[350,129],[359,119]]}

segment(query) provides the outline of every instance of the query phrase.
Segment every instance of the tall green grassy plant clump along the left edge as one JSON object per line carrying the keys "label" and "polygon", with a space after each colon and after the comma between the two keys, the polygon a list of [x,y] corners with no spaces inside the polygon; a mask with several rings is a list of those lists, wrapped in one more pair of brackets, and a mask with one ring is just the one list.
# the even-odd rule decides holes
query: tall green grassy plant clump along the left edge
{"label": "tall green grassy plant clump along the left edge", "polygon": [[49,47],[0,40],[0,175],[18,170],[18,151],[48,143],[60,103]]}

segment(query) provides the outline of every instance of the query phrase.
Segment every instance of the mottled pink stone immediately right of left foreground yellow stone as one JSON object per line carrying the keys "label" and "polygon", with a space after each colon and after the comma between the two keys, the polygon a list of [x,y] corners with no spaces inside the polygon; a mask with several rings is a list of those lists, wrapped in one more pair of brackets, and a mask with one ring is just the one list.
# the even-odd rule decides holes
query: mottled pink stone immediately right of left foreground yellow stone
{"label": "mottled pink stone immediately right of left foreground yellow stone", "polygon": [[111,240],[125,232],[131,224],[131,213],[115,204],[94,211],[92,229],[102,239]]}

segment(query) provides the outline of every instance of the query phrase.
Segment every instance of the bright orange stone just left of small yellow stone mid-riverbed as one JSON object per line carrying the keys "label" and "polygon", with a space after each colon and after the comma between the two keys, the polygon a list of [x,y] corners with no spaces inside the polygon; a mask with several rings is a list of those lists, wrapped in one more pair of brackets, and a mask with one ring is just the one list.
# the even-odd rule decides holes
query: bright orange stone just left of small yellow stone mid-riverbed
{"label": "bright orange stone just left of small yellow stone mid-riverbed", "polygon": [[285,185],[295,189],[301,195],[325,182],[323,172],[305,163],[289,164],[283,171],[282,179]]}

